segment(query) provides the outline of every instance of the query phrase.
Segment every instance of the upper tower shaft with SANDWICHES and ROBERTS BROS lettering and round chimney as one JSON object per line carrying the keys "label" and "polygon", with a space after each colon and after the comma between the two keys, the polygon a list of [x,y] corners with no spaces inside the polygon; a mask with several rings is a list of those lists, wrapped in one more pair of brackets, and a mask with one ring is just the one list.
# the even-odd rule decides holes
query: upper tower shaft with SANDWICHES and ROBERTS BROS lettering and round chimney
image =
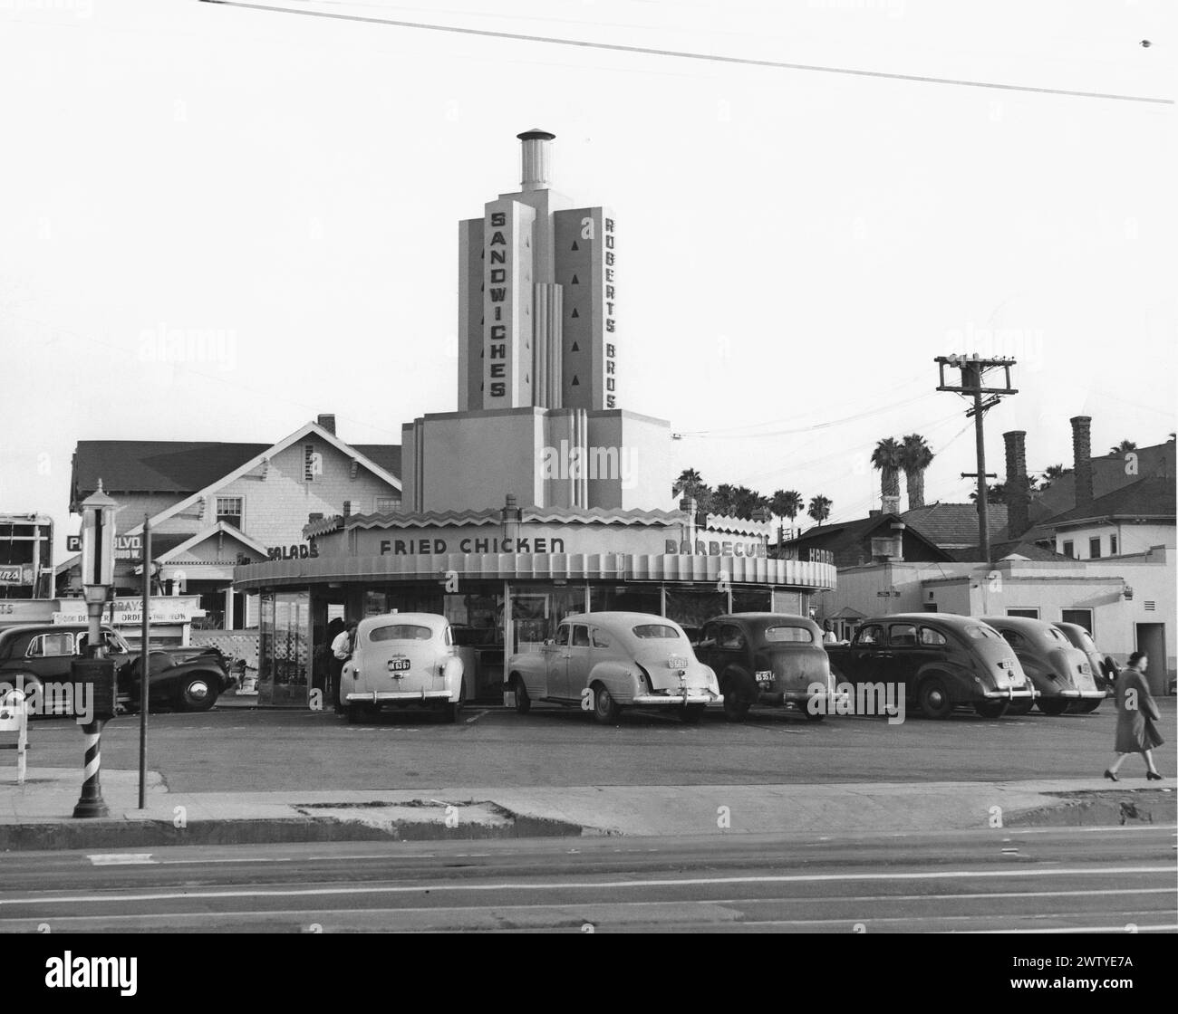
{"label": "upper tower shaft with SANDWICHES and ROBERTS BROS lettering and round chimney", "polygon": [[519,191],[459,224],[458,411],[617,408],[614,215],[549,189],[554,134],[518,138]]}

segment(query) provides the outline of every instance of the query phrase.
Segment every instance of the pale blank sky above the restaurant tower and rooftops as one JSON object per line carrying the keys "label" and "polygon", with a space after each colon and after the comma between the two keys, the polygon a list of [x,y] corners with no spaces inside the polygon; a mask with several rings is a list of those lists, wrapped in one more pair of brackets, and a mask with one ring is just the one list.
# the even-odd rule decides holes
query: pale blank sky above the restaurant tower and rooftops
{"label": "pale blank sky above the restaurant tower and rooftops", "polygon": [[[1145,0],[285,6],[1173,99],[1174,5]],[[59,542],[78,440],[266,442],[335,412],[397,443],[452,411],[456,224],[518,188],[531,127],[554,187],[616,214],[621,405],[686,434],[676,473],[862,516],[875,441],[920,432],[927,498],[964,501],[951,352],[1019,360],[986,420],[1000,475],[1006,429],[1041,469],[1071,463],[1072,415],[1098,452],[1174,428],[1172,104],[196,0],[0,0],[0,509]]]}

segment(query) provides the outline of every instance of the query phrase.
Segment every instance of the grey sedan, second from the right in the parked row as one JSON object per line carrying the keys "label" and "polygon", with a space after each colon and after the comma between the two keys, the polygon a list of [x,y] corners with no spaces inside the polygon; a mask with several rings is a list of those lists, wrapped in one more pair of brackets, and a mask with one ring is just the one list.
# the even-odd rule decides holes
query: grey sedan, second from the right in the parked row
{"label": "grey sedan, second from the right in the parked row", "polygon": [[[1045,715],[1061,715],[1068,706],[1084,708],[1087,701],[1104,700],[1092,676],[1087,655],[1064,633],[1045,620],[1026,616],[982,616],[1014,649],[1023,671],[1039,692],[1038,707]],[[1015,709],[1025,714],[1030,706]]]}

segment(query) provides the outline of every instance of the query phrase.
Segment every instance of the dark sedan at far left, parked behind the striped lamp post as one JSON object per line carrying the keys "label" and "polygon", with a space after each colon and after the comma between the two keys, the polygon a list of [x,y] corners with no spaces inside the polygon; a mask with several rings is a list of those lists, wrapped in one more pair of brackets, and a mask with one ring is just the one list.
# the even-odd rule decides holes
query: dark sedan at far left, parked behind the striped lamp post
{"label": "dark sedan at far left, parked behind the striped lamp post", "polygon": [[[34,687],[72,681],[75,658],[86,651],[85,623],[29,623],[0,631],[0,682]],[[102,646],[114,661],[120,703],[128,711],[139,705],[139,652],[133,652],[110,627],[102,627]],[[211,708],[233,685],[224,655],[213,647],[155,648],[148,652],[150,703],[190,712]]]}

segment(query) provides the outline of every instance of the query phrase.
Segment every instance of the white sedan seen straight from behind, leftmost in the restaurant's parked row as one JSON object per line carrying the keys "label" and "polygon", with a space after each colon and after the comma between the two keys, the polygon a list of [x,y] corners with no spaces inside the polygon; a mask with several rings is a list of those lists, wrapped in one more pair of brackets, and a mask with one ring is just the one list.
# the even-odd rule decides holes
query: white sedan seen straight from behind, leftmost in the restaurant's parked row
{"label": "white sedan seen straight from behind, leftmost in the restaurant's parked row", "polygon": [[458,721],[465,700],[462,659],[446,618],[389,613],[360,620],[339,696],[350,722],[390,703],[435,708]]}

